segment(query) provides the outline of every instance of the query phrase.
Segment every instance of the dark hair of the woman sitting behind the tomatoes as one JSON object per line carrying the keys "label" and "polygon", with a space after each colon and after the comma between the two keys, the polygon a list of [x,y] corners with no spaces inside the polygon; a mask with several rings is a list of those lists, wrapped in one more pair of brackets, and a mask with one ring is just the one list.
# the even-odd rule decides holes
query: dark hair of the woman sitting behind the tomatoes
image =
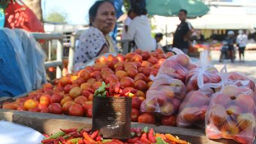
{"label": "dark hair of the woman sitting behind the tomatoes", "polygon": [[[102,3],[105,3],[105,2],[111,3],[111,4],[113,5],[113,7],[115,8],[115,6],[114,6],[114,4],[112,3],[112,1],[109,1],[109,0],[96,1],[96,2],[91,6],[91,8],[90,8],[90,10],[89,10],[90,26],[92,26],[92,20],[95,19],[100,5],[101,5]],[[116,8],[115,8],[115,10],[116,10]]]}

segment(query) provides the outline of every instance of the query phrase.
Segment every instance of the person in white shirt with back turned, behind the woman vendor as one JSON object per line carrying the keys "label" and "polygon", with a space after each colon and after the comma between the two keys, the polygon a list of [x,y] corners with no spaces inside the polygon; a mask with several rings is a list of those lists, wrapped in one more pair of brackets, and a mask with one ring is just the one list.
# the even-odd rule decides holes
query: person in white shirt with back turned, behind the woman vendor
{"label": "person in white shirt with back turned, behind the woman vendor", "polygon": [[147,10],[134,10],[136,17],[132,19],[123,40],[134,40],[136,47],[142,51],[154,51],[156,42],[151,36],[151,28],[148,22]]}

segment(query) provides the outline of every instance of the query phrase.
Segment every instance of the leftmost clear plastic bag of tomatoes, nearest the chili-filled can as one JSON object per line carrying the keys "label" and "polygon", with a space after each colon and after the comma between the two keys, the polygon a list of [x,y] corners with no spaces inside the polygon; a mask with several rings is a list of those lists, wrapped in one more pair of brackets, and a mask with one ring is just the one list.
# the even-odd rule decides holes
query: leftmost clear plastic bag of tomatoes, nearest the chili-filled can
{"label": "leftmost clear plastic bag of tomatoes, nearest the chili-filled can", "polygon": [[146,93],[146,99],[141,104],[141,112],[161,113],[169,116],[179,111],[180,102],[186,95],[182,81],[168,75],[158,75]]}

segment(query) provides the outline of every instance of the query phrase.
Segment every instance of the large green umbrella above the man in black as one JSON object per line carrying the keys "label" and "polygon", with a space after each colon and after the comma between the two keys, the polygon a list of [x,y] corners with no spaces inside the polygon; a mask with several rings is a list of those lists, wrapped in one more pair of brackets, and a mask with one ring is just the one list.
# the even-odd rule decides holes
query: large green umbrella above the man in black
{"label": "large green umbrella above the man in black", "polygon": [[188,17],[200,17],[209,11],[200,0],[147,0],[146,8],[150,15],[175,16],[180,9],[188,11]]}

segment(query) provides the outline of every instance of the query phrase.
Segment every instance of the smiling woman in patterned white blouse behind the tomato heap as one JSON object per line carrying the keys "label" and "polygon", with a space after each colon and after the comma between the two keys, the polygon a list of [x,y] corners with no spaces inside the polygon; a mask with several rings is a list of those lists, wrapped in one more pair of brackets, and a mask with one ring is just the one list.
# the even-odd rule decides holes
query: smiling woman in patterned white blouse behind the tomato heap
{"label": "smiling woman in patterned white blouse behind the tomato heap", "polygon": [[75,49],[74,64],[86,61],[107,52],[115,52],[116,45],[109,32],[116,23],[116,10],[111,1],[97,1],[89,10],[90,28],[83,31]]}

